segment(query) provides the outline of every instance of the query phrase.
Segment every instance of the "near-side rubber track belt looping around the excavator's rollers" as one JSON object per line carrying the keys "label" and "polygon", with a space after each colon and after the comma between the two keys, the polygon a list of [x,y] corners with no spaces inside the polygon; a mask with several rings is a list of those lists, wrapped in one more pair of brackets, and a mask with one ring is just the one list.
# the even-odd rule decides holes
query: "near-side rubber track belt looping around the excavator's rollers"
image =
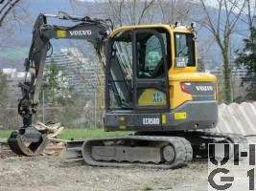
{"label": "near-side rubber track belt looping around the excavator's rollers", "polygon": [[[91,141],[108,141],[108,140],[149,140],[149,141],[161,141],[168,142],[175,147],[175,161],[172,163],[142,163],[142,162],[105,162],[97,161],[92,159],[90,149],[88,145]],[[148,137],[148,136],[125,136],[125,137],[112,137],[112,138],[90,138],[83,142],[81,148],[82,158],[84,161],[92,166],[103,166],[103,167],[125,167],[125,166],[140,166],[140,167],[153,167],[153,168],[178,168],[186,165],[193,159],[193,150],[190,142],[185,138],[177,137]]]}

